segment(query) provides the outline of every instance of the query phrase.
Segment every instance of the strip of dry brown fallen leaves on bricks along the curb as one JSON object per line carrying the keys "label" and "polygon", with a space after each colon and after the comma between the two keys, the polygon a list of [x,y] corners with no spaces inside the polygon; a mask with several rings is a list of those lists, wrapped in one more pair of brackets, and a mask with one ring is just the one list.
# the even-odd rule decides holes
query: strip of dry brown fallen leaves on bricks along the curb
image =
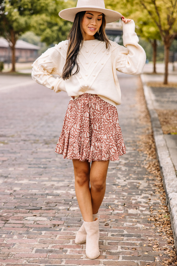
{"label": "strip of dry brown fallen leaves on bricks along the curb", "polygon": [[[159,195],[161,200],[161,208],[155,209],[153,206],[150,208],[151,217],[149,218],[151,221],[154,222],[154,226],[156,227],[156,232],[162,236],[166,243],[169,246],[160,247],[158,242],[154,242],[153,250],[159,252],[159,256],[161,257],[163,252],[164,254],[168,255],[169,258],[163,259],[160,264],[163,266],[167,265],[177,265],[177,255],[174,248],[174,239],[173,239],[173,232],[171,230],[171,223],[170,223],[170,214],[168,208],[166,206],[166,196],[165,191],[163,189],[163,181],[159,169],[159,163],[156,156],[156,147],[154,143],[154,138],[152,134],[152,128],[150,123],[149,113],[146,107],[146,102],[144,98],[143,87],[140,81],[139,89],[137,92],[137,102],[138,106],[140,107],[140,120],[141,123],[144,124],[144,132],[140,136],[141,143],[140,143],[140,152],[145,152],[147,155],[147,159],[145,161],[145,167],[147,171],[153,176],[156,177],[155,182],[155,193]],[[150,177],[150,176],[149,176]]]}

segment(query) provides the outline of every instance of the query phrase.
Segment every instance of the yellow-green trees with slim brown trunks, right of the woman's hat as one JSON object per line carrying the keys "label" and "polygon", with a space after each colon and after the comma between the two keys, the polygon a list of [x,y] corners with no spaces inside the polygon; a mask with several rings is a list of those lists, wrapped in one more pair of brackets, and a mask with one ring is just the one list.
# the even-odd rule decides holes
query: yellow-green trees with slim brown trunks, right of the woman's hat
{"label": "yellow-green trees with slim brown trunks, right of the woman's hat", "polygon": [[[156,73],[157,47],[159,40],[164,46],[165,75],[167,84],[168,63],[172,44],[177,39],[177,1],[176,0],[105,0],[107,8],[119,11],[132,18],[136,32],[152,45],[154,73]],[[146,47],[144,47],[146,51]],[[177,51],[177,48],[175,49]]]}

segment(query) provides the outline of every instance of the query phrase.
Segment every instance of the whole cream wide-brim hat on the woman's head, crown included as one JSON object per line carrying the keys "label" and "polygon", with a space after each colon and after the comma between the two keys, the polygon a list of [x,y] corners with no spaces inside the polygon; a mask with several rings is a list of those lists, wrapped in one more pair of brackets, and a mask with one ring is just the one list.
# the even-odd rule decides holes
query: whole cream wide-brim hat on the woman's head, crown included
{"label": "whole cream wide-brim hat on the woman's head, crown included", "polygon": [[63,9],[59,12],[59,16],[63,19],[74,22],[75,15],[81,11],[101,12],[105,15],[106,23],[114,22],[122,18],[122,15],[119,12],[106,9],[104,0],[78,0],[76,7]]}

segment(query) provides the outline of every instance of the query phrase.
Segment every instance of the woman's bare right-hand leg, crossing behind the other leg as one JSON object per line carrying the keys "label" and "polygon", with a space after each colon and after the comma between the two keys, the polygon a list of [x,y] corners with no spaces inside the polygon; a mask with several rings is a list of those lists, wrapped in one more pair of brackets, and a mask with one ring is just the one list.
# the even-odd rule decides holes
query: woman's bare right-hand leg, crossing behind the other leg
{"label": "woman's bare right-hand leg, crossing behind the other leg", "polygon": [[105,195],[108,165],[109,160],[92,161],[90,169],[90,192],[92,196],[93,214],[98,212]]}

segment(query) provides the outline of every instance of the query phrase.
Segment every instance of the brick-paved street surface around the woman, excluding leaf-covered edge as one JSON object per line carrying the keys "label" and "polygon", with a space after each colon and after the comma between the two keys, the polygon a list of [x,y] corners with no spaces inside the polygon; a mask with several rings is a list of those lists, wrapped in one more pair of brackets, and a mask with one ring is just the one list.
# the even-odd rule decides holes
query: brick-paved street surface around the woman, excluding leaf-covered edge
{"label": "brick-paved street surface around the woman, excluding leaf-covered edge", "polygon": [[[148,220],[161,202],[144,166],[146,155],[138,152],[145,127],[136,103],[139,77],[119,77],[127,154],[110,163],[100,208],[101,255],[90,260],[85,244],[74,242],[82,221],[72,161],[54,153],[69,97],[30,76],[21,85],[20,76],[0,76],[0,265],[158,266],[168,258],[169,244]],[[154,245],[161,251],[153,251]]]}

